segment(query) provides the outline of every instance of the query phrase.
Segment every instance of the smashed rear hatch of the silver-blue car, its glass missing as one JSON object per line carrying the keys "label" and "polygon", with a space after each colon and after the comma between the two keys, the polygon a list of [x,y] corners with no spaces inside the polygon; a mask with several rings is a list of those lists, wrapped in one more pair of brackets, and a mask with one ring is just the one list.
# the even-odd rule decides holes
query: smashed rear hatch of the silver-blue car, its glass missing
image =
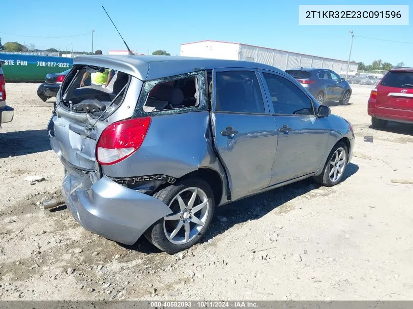
{"label": "smashed rear hatch of the silver-blue car, its glass missing", "polygon": [[[106,88],[94,85],[80,87],[83,74],[83,69],[73,68],[66,76],[57,94],[58,105],[47,130],[51,147],[64,164],[93,171],[97,167],[95,149],[100,134],[109,124],[133,115],[139,91],[129,94],[127,89],[132,86],[133,80],[135,89],[140,90],[142,82],[118,71]],[[83,106],[79,104],[86,104],[85,100],[95,104],[85,107],[88,112],[80,110],[79,107]],[[123,106],[126,100],[128,106]],[[114,102],[112,105],[111,101]],[[99,106],[102,105],[103,113],[99,112]]]}

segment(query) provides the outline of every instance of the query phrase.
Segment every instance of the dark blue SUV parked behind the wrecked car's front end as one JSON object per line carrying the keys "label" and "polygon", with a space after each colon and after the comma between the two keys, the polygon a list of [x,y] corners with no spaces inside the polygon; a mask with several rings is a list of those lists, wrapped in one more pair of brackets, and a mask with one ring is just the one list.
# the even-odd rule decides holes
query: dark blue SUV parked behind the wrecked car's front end
{"label": "dark blue SUV parked behind the wrecked car's front end", "polygon": [[300,82],[320,104],[324,101],[340,101],[340,104],[348,105],[350,102],[350,84],[332,70],[299,68],[285,72]]}

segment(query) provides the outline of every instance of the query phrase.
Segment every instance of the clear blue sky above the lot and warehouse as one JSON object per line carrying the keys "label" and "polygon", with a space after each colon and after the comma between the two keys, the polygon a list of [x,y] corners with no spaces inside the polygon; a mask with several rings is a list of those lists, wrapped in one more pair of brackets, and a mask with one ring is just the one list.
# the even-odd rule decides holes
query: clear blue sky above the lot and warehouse
{"label": "clear blue sky above the lot and warehouse", "polygon": [[[413,42],[413,24],[407,26],[304,26],[298,25],[298,4],[409,4],[410,1],[3,1],[0,37],[7,41],[33,43],[36,48],[91,50],[125,49],[101,5],[136,52],[147,54],[165,49],[179,55],[180,43],[218,40],[242,42],[317,56],[347,60],[348,31],[355,36]],[[412,4],[412,3],[410,3]],[[410,6],[410,13],[412,13]],[[30,38],[13,36],[71,36]],[[391,43],[355,37],[351,60],[366,64],[374,59],[413,66],[413,44]]]}

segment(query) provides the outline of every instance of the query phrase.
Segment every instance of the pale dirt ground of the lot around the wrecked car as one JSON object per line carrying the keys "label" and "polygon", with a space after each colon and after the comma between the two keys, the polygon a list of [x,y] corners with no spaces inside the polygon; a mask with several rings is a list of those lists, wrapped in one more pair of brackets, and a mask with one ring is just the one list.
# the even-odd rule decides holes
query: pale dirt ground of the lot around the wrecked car
{"label": "pale dirt ground of the lot around the wrecked car", "polygon": [[[413,185],[391,183],[413,178],[413,126],[372,129],[370,87],[354,85],[349,106],[329,103],[357,136],[342,183],[305,180],[220,207],[203,242],[175,255],[91,234],[65,206],[40,208],[61,194],[64,168],[45,130],[54,100],[43,103],[37,87],[7,84],[1,300],[413,299]],[[46,180],[30,185],[31,175]]]}

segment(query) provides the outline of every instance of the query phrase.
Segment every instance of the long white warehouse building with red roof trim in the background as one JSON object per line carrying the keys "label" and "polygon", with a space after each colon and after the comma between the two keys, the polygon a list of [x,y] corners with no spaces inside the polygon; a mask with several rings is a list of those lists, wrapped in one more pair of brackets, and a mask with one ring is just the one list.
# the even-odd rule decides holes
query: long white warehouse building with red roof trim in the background
{"label": "long white warehouse building with red roof trim in the background", "polygon": [[[347,61],[299,54],[285,50],[224,41],[197,41],[181,44],[181,56],[260,62],[281,70],[314,67],[347,72]],[[357,62],[350,62],[349,75],[357,72]]]}

